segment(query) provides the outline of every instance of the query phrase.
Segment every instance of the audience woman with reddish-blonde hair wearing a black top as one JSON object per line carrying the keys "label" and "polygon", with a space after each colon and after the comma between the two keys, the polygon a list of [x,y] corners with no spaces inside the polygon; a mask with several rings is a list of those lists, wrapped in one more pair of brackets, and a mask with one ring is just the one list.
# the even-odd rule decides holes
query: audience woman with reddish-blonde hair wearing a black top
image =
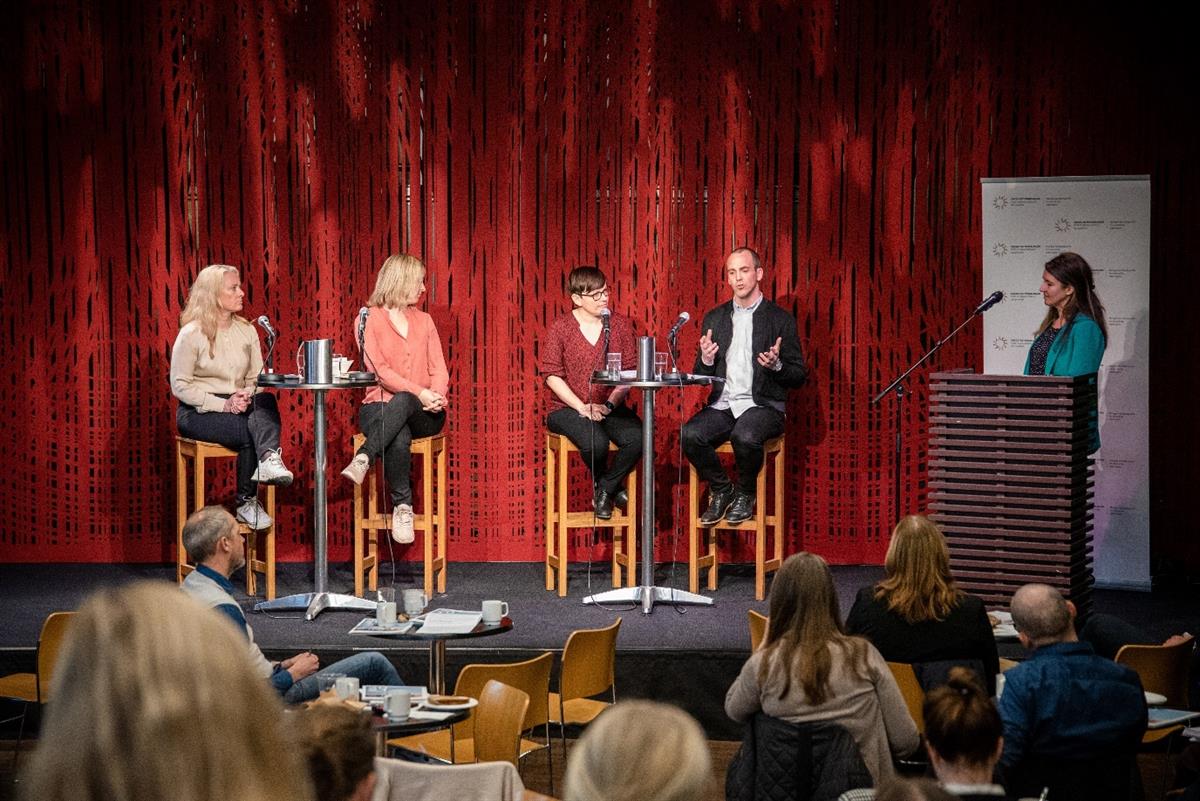
{"label": "audience woman with reddish-blonde hair wearing a black top", "polygon": [[883,571],[882,582],[858,591],[846,631],[871,640],[888,662],[912,664],[926,691],[960,664],[995,692],[1000,660],[988,613],[983,601],[954,585],[937,525],[920,514],[900,520]]}

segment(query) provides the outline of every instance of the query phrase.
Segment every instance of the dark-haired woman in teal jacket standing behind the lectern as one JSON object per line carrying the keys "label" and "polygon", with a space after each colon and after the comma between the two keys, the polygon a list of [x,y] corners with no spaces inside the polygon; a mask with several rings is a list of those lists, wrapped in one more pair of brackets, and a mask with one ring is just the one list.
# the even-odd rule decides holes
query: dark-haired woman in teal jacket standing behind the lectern
{"label": "dark-haired woman in teal jacket standing behind the lectern", "polygon": [[[1025,374],[1087,375],[1099,371],[1109,331],[1091,265],[1078,253],[1060,253],[1046,261],[1039,291],[1050,308],[1030,347]],[[1094,453],[1100,447],[1096,410],[1088,434],[1087,452]]]}

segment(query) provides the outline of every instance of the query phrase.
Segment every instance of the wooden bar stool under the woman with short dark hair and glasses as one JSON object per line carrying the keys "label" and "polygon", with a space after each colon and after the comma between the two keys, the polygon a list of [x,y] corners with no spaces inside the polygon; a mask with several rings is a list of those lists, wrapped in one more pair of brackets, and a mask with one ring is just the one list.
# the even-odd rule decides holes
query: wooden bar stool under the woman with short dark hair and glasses
{"label": "wooden bar stool under the woman with short dark hair and glasses", "polygon": [[[608,451],[617,446],[608,444]],[[571,453],[578,453],[565,436],[546,434],[546,589],[553,590],[556,577],[558,597],[566,596],[566,532],[570,529],[612,529],[612,585],[620,586],[620,567],[628,574],[626,586],[637,586],[637,469],[625,477],[629,504],[625,511],[613,508],[612,519],[599,520],[592,508],[571,512],[566,508],[569,495],[569,462]],[[624,530],[624,543],[620,531]]]}

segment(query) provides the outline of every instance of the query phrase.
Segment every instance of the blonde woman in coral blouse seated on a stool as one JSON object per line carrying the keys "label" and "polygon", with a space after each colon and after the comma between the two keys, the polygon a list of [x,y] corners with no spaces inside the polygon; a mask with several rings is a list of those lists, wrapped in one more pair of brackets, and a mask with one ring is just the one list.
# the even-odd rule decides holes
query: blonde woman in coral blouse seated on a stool
{"label": "blonde woman in coral blouse seated on a stool", "polygon": [[391,494],[391,536],[413,541],[410,447],[446,422],[450,373],[433,318],[416,308],[425,294],[425,264],[407,253],[390,255],[379,267],[362,335],[362,361],[379,379],[359,409],[366,441],[342,475],[356,484],[371,463],[383,457]]}

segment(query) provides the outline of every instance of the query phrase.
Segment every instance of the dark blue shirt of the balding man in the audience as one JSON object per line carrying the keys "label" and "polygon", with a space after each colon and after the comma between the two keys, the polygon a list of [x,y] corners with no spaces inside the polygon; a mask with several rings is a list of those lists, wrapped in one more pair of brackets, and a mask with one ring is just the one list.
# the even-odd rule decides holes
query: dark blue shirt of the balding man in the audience
{"label": "dark blue shirt of the balding man in the audience", "polygon": [[1146,730],[1146,699],[1129,668],[1087,643],[1055,643],[1004,674],[1000,717],[1004,767],[1026,757],[1086,759],[1132,753]]}

